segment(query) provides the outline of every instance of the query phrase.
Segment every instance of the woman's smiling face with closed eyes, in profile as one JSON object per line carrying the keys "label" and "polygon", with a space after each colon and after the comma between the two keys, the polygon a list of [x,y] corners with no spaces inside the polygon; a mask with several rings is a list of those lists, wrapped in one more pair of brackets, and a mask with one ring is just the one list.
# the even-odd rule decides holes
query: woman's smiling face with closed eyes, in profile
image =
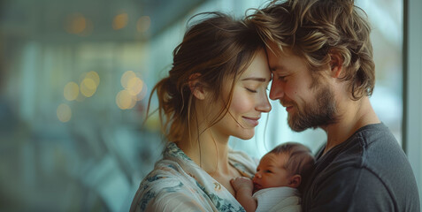
{"label": "woman's smiling face with closed eyes, in profile", "polygon": [[[226,115],[213,126],[216,133],[234,136],[243,140],[252,138],[261,113],[269,112],[267,87],[271,80],[265,50],[261,49],[248,69],[234,84],[232,102]],[[230,87],[226,87],[229,92]]]}

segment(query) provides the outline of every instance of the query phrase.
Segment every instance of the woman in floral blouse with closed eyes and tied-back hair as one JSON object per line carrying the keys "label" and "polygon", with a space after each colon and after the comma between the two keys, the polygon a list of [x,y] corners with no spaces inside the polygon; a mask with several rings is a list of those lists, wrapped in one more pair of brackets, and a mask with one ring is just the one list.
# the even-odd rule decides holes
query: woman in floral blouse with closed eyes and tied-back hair
{"label": "woman in floral blouse with closed eyes and tied-back hair", "polygon": [[152,90],[168,142],[131,211],[244,211],[230,179],[252,177],[257,161],[231,150],[228,139],[252,138],[261,113],[271,110],[271,72],[252,27],[209,14],[188,29],[169,76]]}

